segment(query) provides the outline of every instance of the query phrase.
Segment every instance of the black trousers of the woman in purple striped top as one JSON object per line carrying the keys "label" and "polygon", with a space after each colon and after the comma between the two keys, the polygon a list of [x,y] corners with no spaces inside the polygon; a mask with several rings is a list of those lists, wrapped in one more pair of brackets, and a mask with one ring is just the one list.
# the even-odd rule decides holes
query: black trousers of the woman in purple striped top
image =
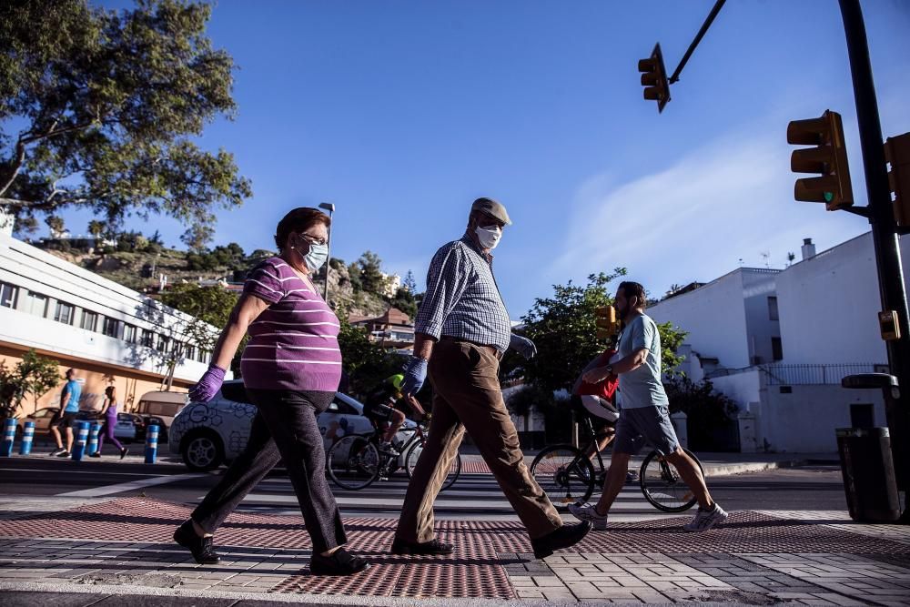
{"label": "black trousers of the woman in purple striped top", "polygon": [[247,389],[247,394],[258,408],[247,449],[208,491],[193,511],[193,521],[214,533],[268,470],[284,460],[313,551],[345,544],[348,538],[326,479],[326,452],[316,420],[329,408],[335,393]]}

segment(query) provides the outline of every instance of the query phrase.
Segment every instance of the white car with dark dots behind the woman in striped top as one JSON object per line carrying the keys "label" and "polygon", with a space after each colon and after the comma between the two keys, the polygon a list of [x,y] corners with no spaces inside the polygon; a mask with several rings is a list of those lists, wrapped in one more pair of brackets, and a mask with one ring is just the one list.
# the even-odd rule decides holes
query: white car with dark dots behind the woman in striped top
{"label": "white car with dark dots behind the woman in striped top", "polygon": [[[170,451],[180,455],[190,470],[215,470],[246,449],[255,416],[256,406],[248,400],[243,381],[226,381],[214,399],[190,402],[177,413],[170,427]],[[373,430],[363,417],[363,404],[341,392],[319,414],[318,421],[326,450],[342,436]],[[413,428],[414,422],[406,420],[404,427]],[[404,455],[399,466],[404,465],[403,460]]]}

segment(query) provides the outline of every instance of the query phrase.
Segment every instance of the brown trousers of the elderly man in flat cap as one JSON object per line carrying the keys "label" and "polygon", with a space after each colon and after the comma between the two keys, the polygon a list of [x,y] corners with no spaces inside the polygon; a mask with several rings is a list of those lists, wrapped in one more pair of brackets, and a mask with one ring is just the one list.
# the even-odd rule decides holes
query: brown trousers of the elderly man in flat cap
{"label": "brown trousers of the elderly man in flat cap", "polygon": [[433,417],[401,510],[396,531],[401,540],[433,539],[433,502],[465,430],[532,540],[562,526],[559,512],[524,463],[518,432],[502,400],[499,367],[488,347],[442,339],[433,348],[429,367],[436,392]]}

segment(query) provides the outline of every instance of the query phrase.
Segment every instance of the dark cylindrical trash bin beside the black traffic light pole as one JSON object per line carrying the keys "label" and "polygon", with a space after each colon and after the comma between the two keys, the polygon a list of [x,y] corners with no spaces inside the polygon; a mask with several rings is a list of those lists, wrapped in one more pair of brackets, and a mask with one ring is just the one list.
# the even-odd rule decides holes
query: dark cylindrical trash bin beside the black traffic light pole
{"label": "dark cylindrical trash bin beside the black traffic light pole", "polygon": [[901,515],[887,428],[838,428],[837,452],[850,518],[894,522]]}

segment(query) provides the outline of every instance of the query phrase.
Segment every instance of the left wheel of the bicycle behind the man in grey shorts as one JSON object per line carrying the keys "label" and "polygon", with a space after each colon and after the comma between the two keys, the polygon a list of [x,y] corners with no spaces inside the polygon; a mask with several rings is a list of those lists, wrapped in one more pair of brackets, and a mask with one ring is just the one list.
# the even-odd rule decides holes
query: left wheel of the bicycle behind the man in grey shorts
{"label": "left wheel of the bicycle behind the man in grey shorts", "polygon": [[553,445],[538,453],[531,476],[557,506],[588,501],[594,492],[591,460],[571,445]]}

